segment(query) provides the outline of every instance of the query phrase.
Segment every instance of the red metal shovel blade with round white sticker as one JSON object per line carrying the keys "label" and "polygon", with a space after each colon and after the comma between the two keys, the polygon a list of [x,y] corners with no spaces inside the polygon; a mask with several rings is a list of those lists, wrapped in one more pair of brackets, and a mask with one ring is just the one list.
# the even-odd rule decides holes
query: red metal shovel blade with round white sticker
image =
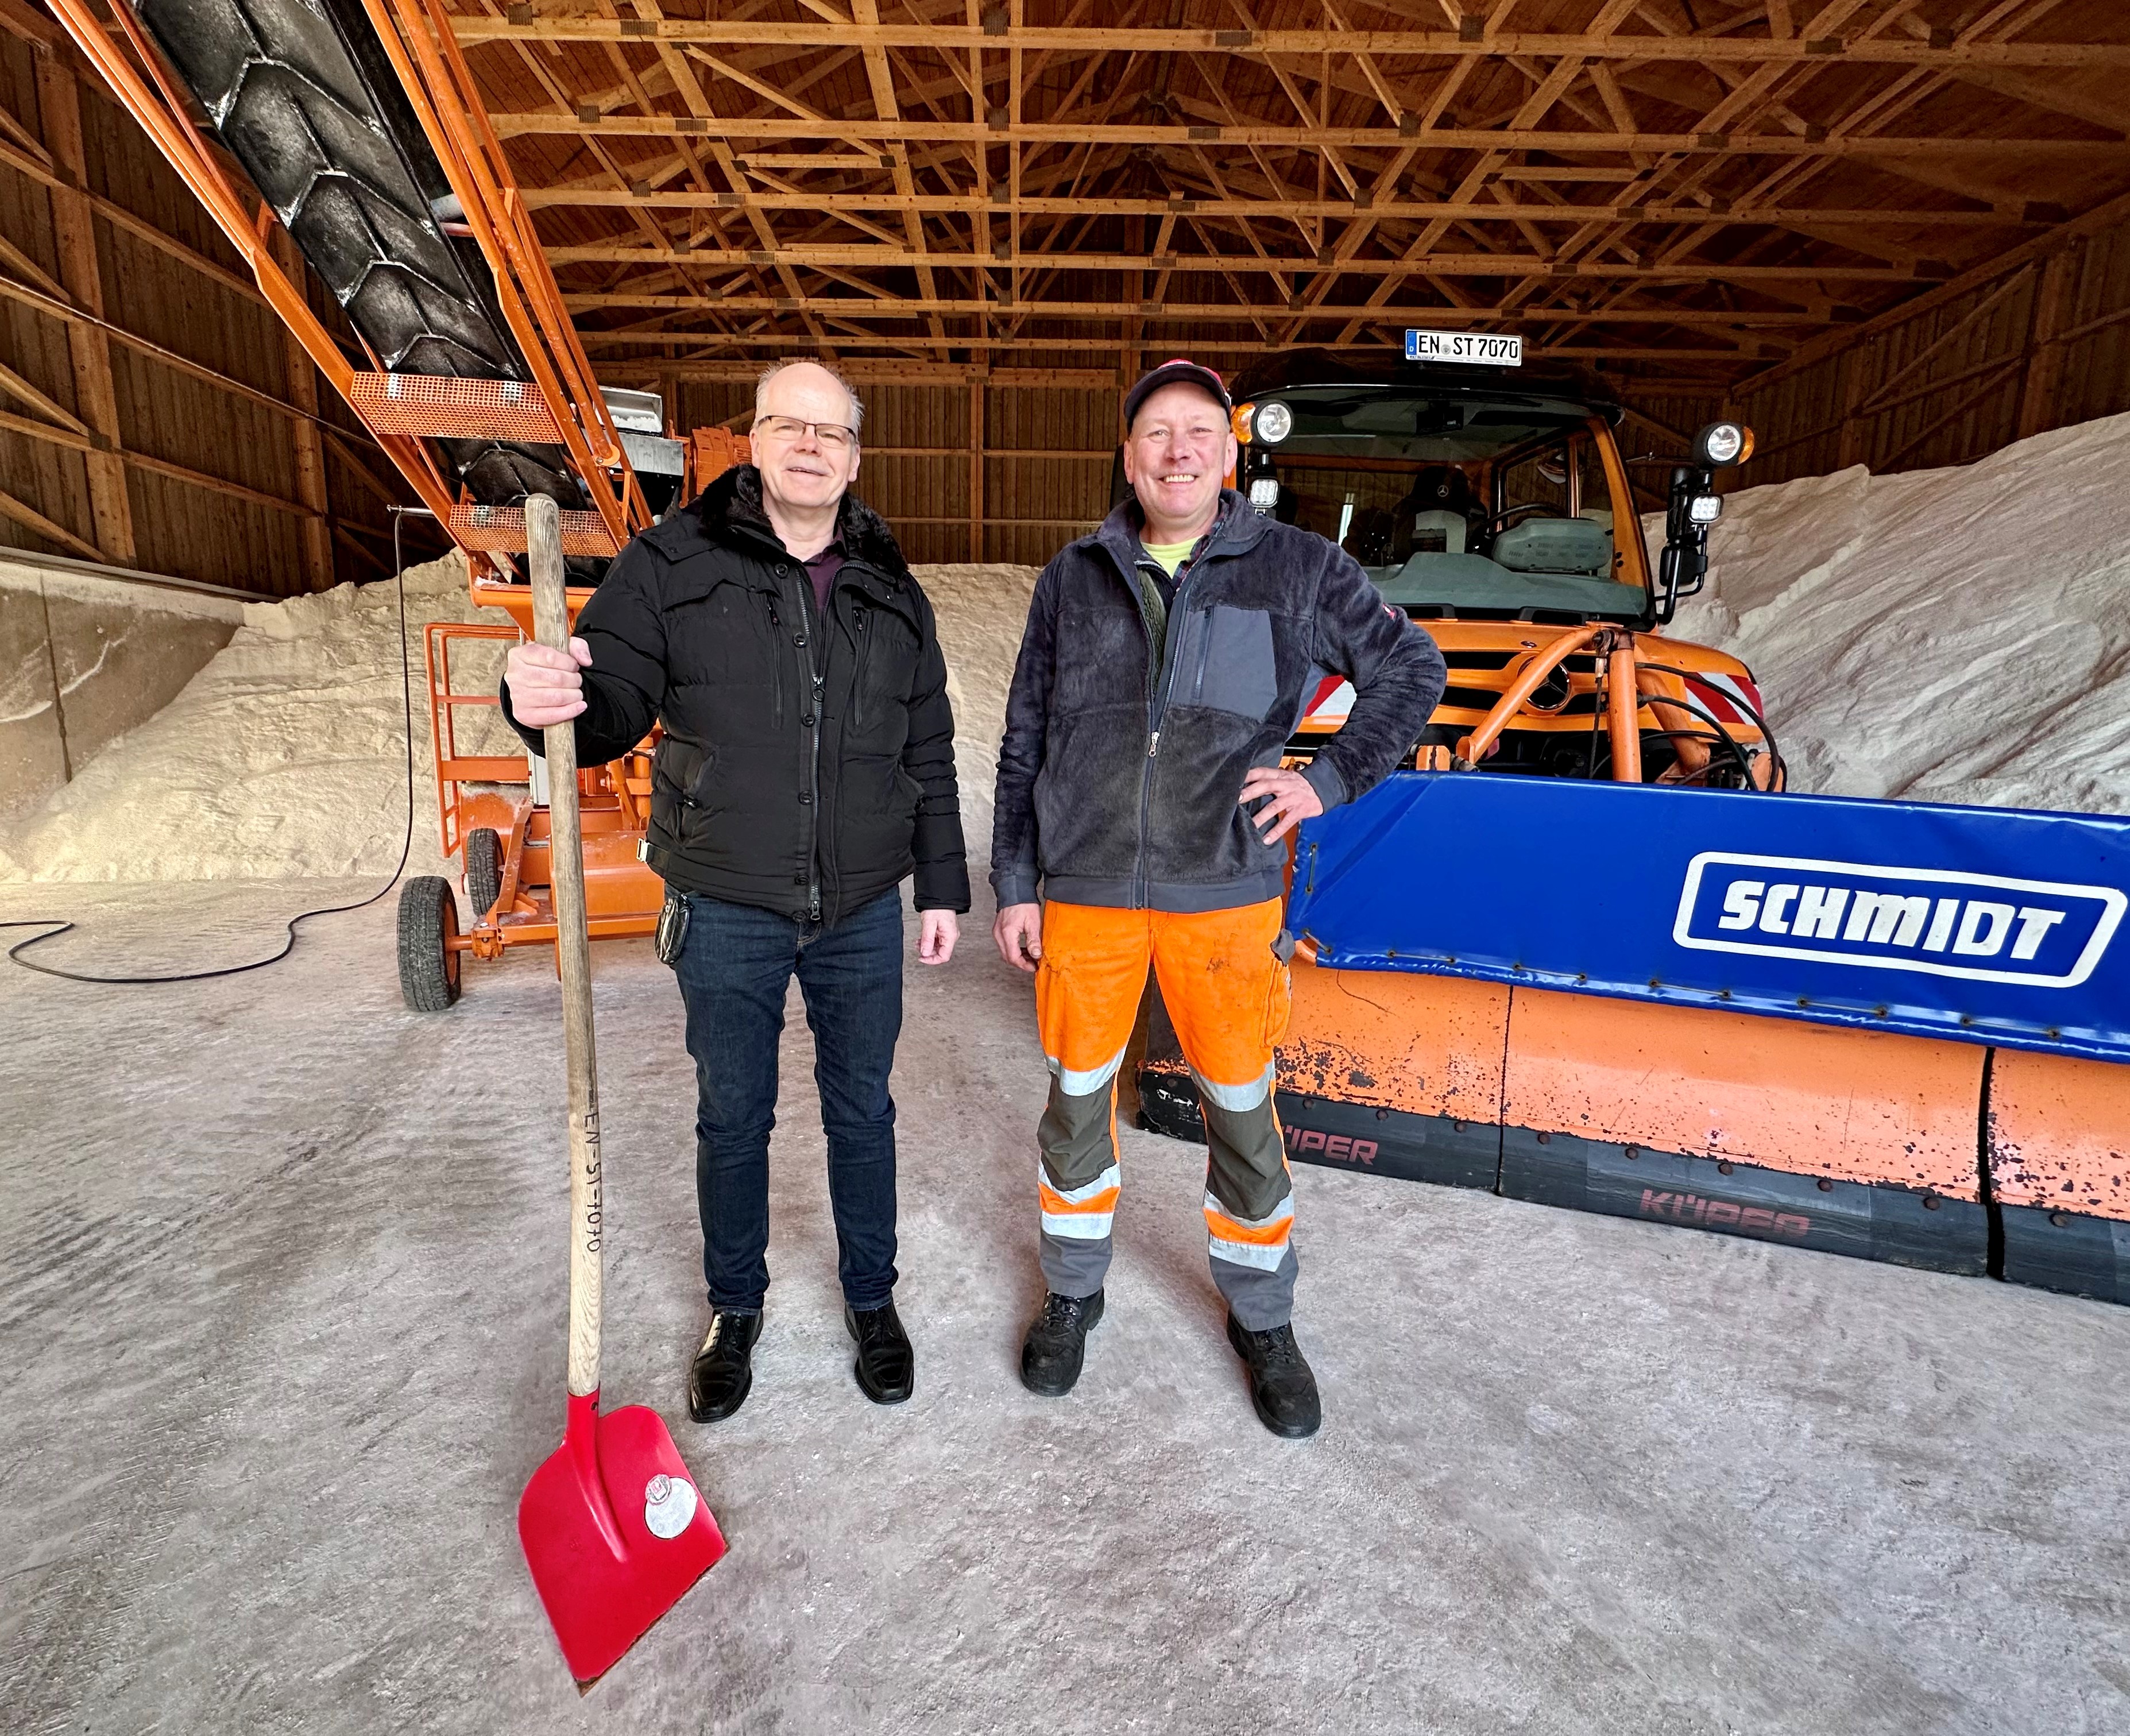
{"label": "red metal shovel blade with round white sticker", "polygon": [[656,1410],[569,1399],[562,1446],[518,1502],[518,1540],[562,1659],[588,1687],[682,1600],[724,1536]]}

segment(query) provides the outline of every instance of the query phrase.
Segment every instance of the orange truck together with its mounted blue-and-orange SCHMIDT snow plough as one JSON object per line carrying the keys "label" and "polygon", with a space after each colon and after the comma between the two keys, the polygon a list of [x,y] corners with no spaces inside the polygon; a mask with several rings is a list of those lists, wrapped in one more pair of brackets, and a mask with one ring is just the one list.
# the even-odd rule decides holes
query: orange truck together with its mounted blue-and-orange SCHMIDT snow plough
{"label": "orange truck together with its mounted blue-and-orange SCHMIDT snow plough", "polygon": [[[1753,673],[1666,630],[1751,432],[1629,458],[1514,339],[1406,354],[1235,392],[1235,488],[1448,662],[1295,839],[1289,1154],[2130,1301],[2130,829],[1787,795]],[[1350,705],[1325,675],[1289,763]],[[1159,995],[1144,1044],[1142,1125],[1203,1137]]]}

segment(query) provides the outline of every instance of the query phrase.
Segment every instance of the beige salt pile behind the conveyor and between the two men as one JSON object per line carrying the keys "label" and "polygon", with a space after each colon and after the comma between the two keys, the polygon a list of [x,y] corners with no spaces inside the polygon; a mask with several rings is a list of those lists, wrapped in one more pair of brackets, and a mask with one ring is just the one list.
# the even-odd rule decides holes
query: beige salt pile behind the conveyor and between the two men
{"label": "beige salt pile behind the conveyor and between the two men", "polygon": [[[990,856],[990,786],[1033,567],[920,567],[939,613],[969,856]],[[458,556],[407,569],[415,814],[409,873],[439,854],[422,628],[505,624],[475,609]],[[503,643],[458,641],[452,686],[494,692]],[[515,754],[488,707],[458,709],[462,754]],[[162,711],[89,760],[0,841],[0,880],[275,880],[390,873],[407,824],[398,599],[390,584],[247,603],[230,643]]]}

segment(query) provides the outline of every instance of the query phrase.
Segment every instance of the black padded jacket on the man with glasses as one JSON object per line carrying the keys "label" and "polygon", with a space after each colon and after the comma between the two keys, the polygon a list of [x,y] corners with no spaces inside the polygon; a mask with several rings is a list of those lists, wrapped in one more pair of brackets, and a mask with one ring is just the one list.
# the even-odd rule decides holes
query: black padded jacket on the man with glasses
{"label": "black padded jacket on the man with glasses", "polygon": [[665,724],[645,858],[686,892],[835,922],[916,869],[918,910],[967,910],[931,603],[858,498],[837,535],[826,622],[752,464],[624,547],[577,620],[577,756]]}

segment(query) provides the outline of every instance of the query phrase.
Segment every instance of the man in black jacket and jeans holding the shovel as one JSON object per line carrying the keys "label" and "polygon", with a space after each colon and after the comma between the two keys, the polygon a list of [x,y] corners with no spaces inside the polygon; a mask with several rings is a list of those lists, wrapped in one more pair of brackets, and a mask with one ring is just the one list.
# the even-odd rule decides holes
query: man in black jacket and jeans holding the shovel
{"label": "man in black jacket and jeans holding the shovel", "polygon": [[577,620],[569,656],[518,645],[503,705],[577,720],[611,760],[656,718],[645,861],[667,882],[669,963],[697,1069],[697,1201],[709,1333],[688,1412],[731,1416],[754,1380],[769,1287],[769,1129],[792,973],[814,1031],[843,1321],[858,1387],[912,1391],[895,1314],[895,1101],[903,1018],[901,880],[918,959],[954,952],[969,907],[954,718],[931,603],[888,526],[850,494],[856,394],[790,362],[754,398],[754,462],[637,537]]}

